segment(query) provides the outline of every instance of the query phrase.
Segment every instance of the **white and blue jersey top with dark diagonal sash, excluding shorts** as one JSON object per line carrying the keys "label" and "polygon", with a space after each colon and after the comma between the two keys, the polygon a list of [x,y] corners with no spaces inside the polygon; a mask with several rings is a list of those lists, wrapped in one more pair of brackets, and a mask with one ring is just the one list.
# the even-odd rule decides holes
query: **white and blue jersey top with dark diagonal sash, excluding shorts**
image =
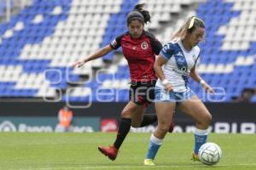
{"label": "white and blue jersey top with dark diagonal sash, excluding shorts", "polygon": [[[200,55],[200,48],[195,46],[187,51],[181,41],[169,42],[160,51],[160,55],[166,59],[162,66],[166,79],[172,84],[174,92],[184,92],[189,89],[189,72],[196,65]],[[156,86],[164,88],[160,79]]]}

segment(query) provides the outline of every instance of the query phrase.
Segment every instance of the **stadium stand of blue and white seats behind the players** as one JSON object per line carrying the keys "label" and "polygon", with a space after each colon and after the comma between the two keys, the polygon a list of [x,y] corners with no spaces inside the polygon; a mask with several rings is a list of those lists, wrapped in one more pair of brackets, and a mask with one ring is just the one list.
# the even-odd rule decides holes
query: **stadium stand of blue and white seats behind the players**
{"label": "stadium stand of blue and white seats behind the players", "polygon": [[[145,1],[33,0],[9,22],[0,23],[0,97],[127,101],[130,76],[125,59],[110,65],[107,72],[104,65],[112,62],[115,54],[79,69],[71,65],[124,32],[126,14],[142,2]],[[172,15],[181,15],[183,6],[199,2],[196,11],[182,18]],[[148,0],[147,5],[152,11],[148,30],[161,29],[156,35],[161,42],[170,41],[172,32],[189,15],[205,20],[207,34],[200,45],[198,69],[212,87],[224,88],[226,93],[204,98],[198,83],[191,81],[191,88],[201,98],[230,102],[244,88],[256,88],[255,1]],[[163,23],[171,20],[176,24],[165,27]],[[95,71],[96,77],[91,77]],[[256,102],[255,96],[252,102]]]}

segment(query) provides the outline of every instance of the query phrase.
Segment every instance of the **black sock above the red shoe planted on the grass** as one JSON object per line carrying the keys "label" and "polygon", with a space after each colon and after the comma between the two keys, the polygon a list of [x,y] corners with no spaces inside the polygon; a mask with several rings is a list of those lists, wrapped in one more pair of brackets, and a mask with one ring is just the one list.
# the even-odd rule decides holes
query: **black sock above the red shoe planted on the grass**
{"label": "black sock above the red shoe planted on the grass", "polygon": [[131,128],[131,119],[130,118],[122,118],[119,131],[117,133],[116,139],[113,143],[114,147],[119,150],[120,146],[123,144],[126,135],[129,133]]}

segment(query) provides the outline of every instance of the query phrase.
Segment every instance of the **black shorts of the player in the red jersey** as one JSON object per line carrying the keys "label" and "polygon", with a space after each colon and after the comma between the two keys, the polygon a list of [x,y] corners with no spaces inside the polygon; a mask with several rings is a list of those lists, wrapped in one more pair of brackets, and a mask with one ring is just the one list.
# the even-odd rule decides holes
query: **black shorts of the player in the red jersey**
{"label": "black shorts of the player in the red jersey", "polygon": [[156,80],[150,82],[131,82],[130,101],[133,101],[137,105],[143,105],[147,107],[154,100],[154,85]]}

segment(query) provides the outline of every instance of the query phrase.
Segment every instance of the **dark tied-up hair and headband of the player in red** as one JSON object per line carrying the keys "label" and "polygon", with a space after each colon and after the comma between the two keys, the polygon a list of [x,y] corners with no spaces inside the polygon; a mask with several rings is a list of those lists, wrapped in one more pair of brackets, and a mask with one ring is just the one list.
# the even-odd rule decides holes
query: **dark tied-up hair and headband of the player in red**
{"label": "dark tied-up hair and headband of the player in red", "polygon": [[137,4],[133,10],[127,14],[126,22],[127,26],[131,23],[131,20],[141,20],[143,23],[147,24],[147,22],[150,22],[150,14],[147,10],[144,10],[145,3]]}

